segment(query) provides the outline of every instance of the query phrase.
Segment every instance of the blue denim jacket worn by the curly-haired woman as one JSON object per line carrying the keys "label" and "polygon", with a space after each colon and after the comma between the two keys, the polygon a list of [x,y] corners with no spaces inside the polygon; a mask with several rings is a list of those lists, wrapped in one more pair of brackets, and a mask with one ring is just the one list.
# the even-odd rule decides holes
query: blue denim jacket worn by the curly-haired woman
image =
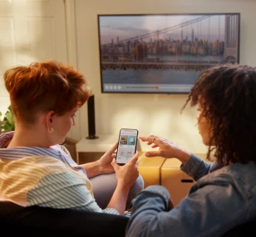
{"label": "blue denim jacket worn by the curly-haired woman", "polygon": [[192,154],[181,170],[196,181],[188,196],[168,210],[165,187],[146,187],[133,201],[126,236],[215,237],[255,218],[254,162],[210,166]]}

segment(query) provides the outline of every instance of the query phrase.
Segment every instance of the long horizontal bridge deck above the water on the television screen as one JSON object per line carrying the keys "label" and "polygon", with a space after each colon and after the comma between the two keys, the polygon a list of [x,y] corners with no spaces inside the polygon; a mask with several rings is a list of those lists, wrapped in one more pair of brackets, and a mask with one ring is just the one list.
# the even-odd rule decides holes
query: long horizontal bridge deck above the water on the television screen
{"label": "long horizontal bridge deck above the water on the television screen", "polygon": [[101,70],[205,70],[211,66],[218,65],[210,62],[113,62],[102,61]]}

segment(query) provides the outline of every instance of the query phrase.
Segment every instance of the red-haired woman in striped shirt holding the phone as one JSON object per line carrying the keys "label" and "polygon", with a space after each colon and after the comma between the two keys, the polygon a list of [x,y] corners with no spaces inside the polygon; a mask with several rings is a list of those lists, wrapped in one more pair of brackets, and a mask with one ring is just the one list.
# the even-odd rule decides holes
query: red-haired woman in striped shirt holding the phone
{"label": "red-haired woman in striped shirt holding the phone", "polygon": [[[88,99],[84,76],[71,66],[42,61],[9,69],[4,80],[15,131],[0,136],[0,201],[124,215],[130,187],[131,196],[143,188],[138,154],[120,167],[112,157],[116,143],[96,162],[79,166],[59,145],[76,124],[77,110]],[[90,181],[101,174],[105,174],[101,180],[111,182],[113,176],[117,180],[109,184],[112,191],[106,181],[96,187],[109,196],[111,193],[104,207],[97,204]]]}

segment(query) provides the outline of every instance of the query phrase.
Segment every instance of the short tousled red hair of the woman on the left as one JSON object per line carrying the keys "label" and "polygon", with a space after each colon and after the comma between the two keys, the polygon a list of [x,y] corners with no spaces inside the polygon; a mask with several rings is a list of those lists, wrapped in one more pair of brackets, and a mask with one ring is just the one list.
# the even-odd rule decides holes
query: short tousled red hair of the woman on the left
{"label": "short tousled red hair of the woman on the left", "polygon": [[4,74],[12,111],[23,122],[34,123],[37,114],[53,110],[65,114],[81,107],[89,97],[86,80],[72,66],[56,61],[17,66]]}

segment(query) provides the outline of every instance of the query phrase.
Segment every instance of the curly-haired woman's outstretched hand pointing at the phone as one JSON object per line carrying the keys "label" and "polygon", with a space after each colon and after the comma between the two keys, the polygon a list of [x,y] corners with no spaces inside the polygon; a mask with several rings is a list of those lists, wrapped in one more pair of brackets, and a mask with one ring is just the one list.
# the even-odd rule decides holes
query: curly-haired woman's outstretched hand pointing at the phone
{"label": "curly-haired woman's outstretched hand pointing at the phone", "polygon": [[180,148],[175,143],[170,142],[165,138],[159,136],[150,135],[149,137],[139,137],[142,142],[148,142],[151,148],[159,148],[158,151],[145,152],[146,157],[165,157],[165,158],[177,158],[185,164],[191,153],[186,152],[185,149]]}

